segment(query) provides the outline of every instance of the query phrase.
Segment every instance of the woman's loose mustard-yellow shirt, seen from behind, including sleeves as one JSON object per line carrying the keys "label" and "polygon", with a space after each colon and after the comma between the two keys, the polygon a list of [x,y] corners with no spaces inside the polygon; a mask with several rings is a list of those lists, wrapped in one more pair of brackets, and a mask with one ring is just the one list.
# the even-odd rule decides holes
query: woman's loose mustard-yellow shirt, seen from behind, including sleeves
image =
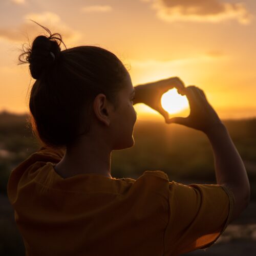
{"label": "woman's loose mustard-yellow shirt, seen from behind, including sleeves", "polygon": [[233,195],[220,185],[170,182],[160,170],[137,180],[54,170],[63,150],[41,147],[11,173],[8,197],[26,255],[170,256],[213,244]]}

